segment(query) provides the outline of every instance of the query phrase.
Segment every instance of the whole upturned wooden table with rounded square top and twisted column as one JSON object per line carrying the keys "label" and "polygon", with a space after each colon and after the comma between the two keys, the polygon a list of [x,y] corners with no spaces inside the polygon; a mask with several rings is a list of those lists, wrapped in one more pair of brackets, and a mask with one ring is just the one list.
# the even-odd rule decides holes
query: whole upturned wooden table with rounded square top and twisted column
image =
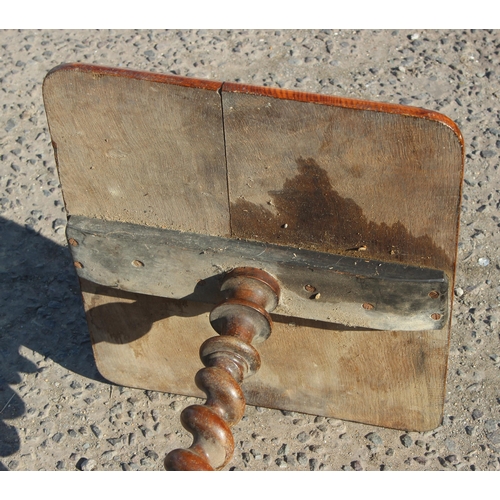
{"label": "whole upturned wooden table with rounded square top and twisted column", "polygon": [[[215,392],[196,415],[239,419],[228,408],[243,398],[243,411],[246,400],[397,429],[440,424],[464,156],[451,120],[82,64],[51,71],[44,100],[105,378],[203,396],[199,349],[222,302],[212,323],[233,339],[204,362],[225,359],[217,369],[238,388],[258,368],[242,342],[262,341],[262,366],[241,394],[198,380]],[[223,467],[232,437],[217,429],[193,430],[186,453],[198,465],[168,468]]]}

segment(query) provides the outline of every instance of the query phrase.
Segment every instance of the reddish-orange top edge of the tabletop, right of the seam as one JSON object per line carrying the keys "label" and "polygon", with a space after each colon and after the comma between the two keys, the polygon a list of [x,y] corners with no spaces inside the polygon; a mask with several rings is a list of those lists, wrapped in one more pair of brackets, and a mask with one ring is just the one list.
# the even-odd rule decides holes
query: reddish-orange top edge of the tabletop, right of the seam
{"label": "reddish-orange top edge of the tabletop, right of the seam", "polygon": [[386,102],[364,101],[362,99],[351,99],[348,97],[336,97],[332,95],[313,94],[309,92],[299,92],[295,90],[279,89],[274,87],[258,87],[256,85],[246,85],[242,83],[224,82],[223,92],[235,92],[239,94],[252,94],[275,99],[286,99],[289,101],[312,102],[326,106],[336,106],[338,108],[359,109],[365,111],[377,111],[380,113],[391,113],[411,116],[414,118],[424,118],[437,121],[451,128],[460,140],[462,152],[464,151],[464,139],[457,124],[446,115],[437,111],[430,111],[425,108],[415,106],[404,106],[402,104],[390,104]]}

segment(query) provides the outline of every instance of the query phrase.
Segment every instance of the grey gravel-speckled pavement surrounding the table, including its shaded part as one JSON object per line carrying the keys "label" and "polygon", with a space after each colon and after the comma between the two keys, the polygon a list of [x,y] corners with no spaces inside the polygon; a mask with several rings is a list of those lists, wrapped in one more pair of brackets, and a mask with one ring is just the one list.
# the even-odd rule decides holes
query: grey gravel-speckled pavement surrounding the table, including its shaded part
{"label": "grey gravel-speckled pavement surrounding the table, including its shaded part", "polygon": [[98,374],[42,102],[84,62],[409,104],[456,121],[465,184],[444,420],[405,433],[247,407],[236,470],[500,469],[500,32],[0,32],[0,469],[161,470],[194,398]]}

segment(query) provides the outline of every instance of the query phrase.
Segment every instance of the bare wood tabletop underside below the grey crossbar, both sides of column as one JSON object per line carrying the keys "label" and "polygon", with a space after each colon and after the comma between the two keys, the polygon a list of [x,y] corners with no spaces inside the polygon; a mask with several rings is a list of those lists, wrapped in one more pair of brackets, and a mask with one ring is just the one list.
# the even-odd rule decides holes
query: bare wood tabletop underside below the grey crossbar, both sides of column
{"label": "bare wood tabletop underside below the grey crossbar, both sides of column", "polygon": [[[120,385],[203,397],[199,346],[211,306],[82,281],[96,363]],[[425,431],[441,420],[448,339],[440,332],[342,331],[273,315],[248,404]],[[189,332],[189,335],[186,335]]]}

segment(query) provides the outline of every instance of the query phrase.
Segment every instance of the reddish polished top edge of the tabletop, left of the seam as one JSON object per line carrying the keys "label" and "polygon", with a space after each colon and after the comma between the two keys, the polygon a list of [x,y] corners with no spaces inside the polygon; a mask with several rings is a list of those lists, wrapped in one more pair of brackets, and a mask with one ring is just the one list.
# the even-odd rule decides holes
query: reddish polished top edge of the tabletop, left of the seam
{"label": "reddish polished top edge of the tabletop, left of the seam", "polygon": [[45,78],[59,71],[78,71],[81,73],[93,73],[96,75],[119,76],[122,78],[131,78],[134,80],[147,80],[149,82],[167,83],[169,85],[178,85],[180,87],[192,87],[203,90],[218,91],[222,87],[221,82],[213,80],[201,80],[197,78],[188,78],[185,76],[167,75],[164,73],[150,73],[148,71],[136,71],[128,68],[111,68],[108,66],[98,66],[96,64],[68,63],[61,64],[51,69]]}

